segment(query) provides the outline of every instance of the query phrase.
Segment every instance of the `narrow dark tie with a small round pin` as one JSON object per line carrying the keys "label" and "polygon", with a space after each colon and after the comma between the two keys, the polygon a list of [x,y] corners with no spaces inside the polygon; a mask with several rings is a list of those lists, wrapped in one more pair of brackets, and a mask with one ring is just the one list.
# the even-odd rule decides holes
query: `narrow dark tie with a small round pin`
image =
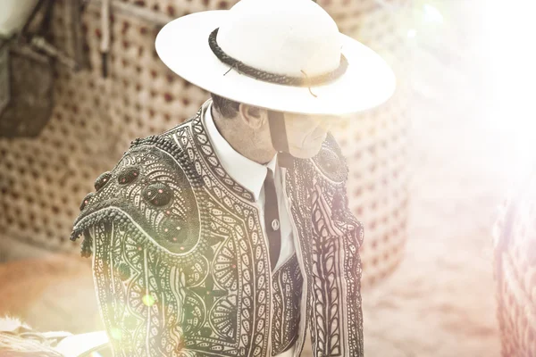
{"label": "narrow dark tie with a small round pin", "polygon": [[270,262],[273,271],[281,251],[281,224],[277,208],[277,194],[273,184],[273,173],[270,169],[268,169],[266,179],[264,179],[264,225],[268,235]]}

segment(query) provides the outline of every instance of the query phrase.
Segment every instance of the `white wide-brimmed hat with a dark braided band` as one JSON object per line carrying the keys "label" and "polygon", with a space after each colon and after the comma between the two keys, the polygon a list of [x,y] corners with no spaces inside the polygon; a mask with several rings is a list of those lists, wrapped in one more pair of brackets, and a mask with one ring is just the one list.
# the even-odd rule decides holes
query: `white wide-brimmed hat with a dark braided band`
{"label": "white wide-brimmed hat with a dark braided band", "polygon": [[155,47],[197,87],[278,112],[361,112],[396,86],[381,56],[341,34],[313,0],[241,0],[192,13],[166,24]]}

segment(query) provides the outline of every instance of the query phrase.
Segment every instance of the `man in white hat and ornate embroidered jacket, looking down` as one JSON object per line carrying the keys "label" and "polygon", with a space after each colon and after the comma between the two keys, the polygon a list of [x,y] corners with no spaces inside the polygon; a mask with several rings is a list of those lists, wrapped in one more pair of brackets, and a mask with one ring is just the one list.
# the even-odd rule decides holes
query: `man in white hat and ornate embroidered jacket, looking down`
{"label": "man in white hat and ornate embroidered jacket, looking down", "polygon": [[212,99],[80,207],[115,355],[362,356],[363,228],[328,129],[391,95],[389,67],[311,0],[197,12],[155,46]]}

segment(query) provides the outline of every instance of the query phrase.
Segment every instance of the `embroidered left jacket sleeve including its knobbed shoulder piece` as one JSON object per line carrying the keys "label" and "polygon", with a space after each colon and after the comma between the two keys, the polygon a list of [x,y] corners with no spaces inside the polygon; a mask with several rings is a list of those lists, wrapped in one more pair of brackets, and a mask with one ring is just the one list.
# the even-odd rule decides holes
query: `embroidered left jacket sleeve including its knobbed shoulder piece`
{"label": "embroidered left jacket sleeve including its knobbed shoulder piece", "polygon": [[83,256],[93,254],[97,302],[116,356],[194,355],[184,346],[184,259],[195,245],[197,208],[188,192],[178,194],[188,180],[160,144],[131,147],[96,179],[71,234],[83,235]]}

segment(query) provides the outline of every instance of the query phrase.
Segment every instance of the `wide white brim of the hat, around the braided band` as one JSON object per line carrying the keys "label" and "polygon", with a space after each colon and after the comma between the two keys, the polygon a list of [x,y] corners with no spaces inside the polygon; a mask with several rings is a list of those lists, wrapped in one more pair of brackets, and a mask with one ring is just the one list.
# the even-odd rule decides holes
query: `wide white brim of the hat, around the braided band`
{"label": "wide white brim of the hat, around the braided band", "polygon": [[[291,87],[264,82],[230,70],[208,45],[227,10],[196,12],[166,24],[155,40],[156,53],[173,72],[188,82],[233,101],[279,112],[344,115],[384,103],[396,79],[379,54],[340,34],[348,69],[329,84]],[[311,92],[315,95],[312,95]]]}

